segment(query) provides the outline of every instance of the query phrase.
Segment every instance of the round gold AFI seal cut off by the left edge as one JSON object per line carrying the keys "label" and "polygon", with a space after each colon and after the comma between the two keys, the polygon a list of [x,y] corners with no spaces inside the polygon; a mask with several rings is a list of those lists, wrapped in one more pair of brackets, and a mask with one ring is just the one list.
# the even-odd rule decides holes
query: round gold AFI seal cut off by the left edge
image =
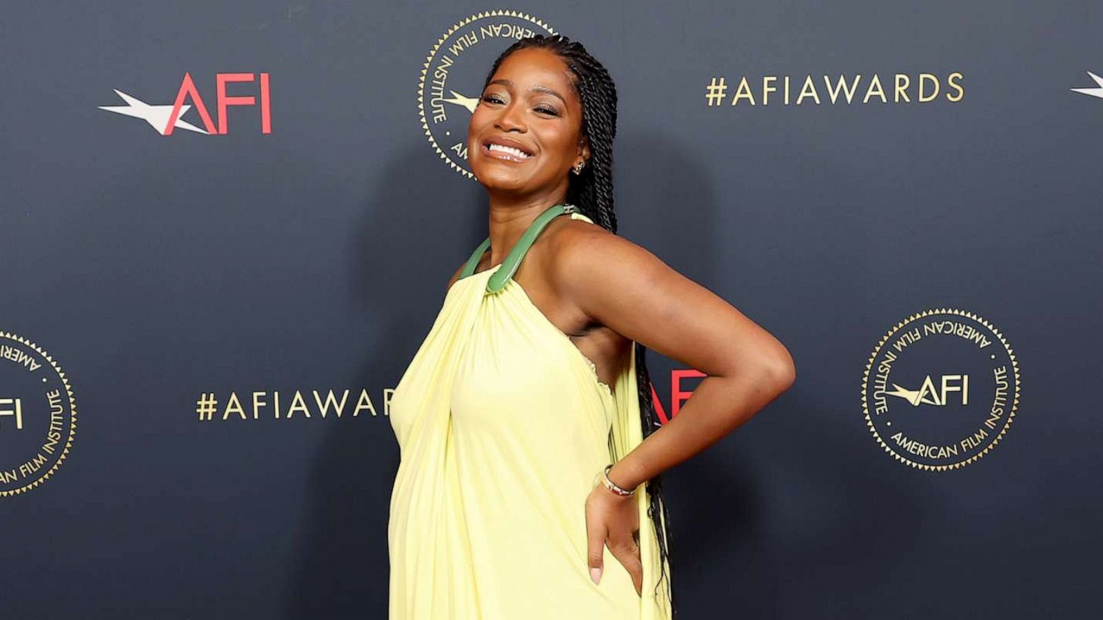
{"label": "round gold AFI seal cut off by the left edge", "polygon": [[76,402],[61,366],[33,342],[0,331],[0,498],[53,475],[75,432]]}

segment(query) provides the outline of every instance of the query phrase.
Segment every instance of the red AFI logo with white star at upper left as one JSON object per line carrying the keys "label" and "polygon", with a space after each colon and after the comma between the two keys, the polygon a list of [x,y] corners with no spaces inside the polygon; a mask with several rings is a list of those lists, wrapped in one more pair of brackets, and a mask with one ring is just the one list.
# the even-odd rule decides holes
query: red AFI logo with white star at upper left
{"label": "red AFI logo with white star at upper left", "polygon": [[[268,86],[268,74],[261,73],[259,75],[260,82],[258,85],[258,94],[260,95],[260,132],[271,133],[271,92]],[[130,95],[115,88],[115,94],[128,105],[99,106],[99,109],[144,119],[146,122],[148,122],[153,129],[157,129],[157,131],[162,136],[172,136],[172,131],[176,127],[189,131],[195,131],[196,133],[227,133],[229,128],[226,122],[226,108],[229,106],[256,106],[257,98],[251,95],[247,97],[227,96],[226,84],[229,82],[253,82],[254,79],[254,74],[251,73],[219,73],[215,75],[216,105],[218,113],[217,126],[212,122],[211,114],[207,111],[207,106],[203,103],[203,97],[200,96],[200,92],[195,87],[195,83],[192,82],[192,75],[190,73],[184,73],[184,79],[180,84],[180,89],[176,90],[176,100],[173,101],[171,106],[150,105],[141,99],[138,99],[137,97],[131,97]],[[205,130],[180,118],[192,108],[190,105],[184,105],[184,99],[188,98],[190,98],[195,105],[195,111],[199,113]]]}

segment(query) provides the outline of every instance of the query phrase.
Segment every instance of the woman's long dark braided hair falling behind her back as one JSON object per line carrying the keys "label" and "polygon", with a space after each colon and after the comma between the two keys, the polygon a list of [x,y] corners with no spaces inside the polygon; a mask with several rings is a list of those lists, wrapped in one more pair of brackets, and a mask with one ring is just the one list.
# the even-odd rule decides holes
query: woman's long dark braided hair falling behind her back
{"label": "woman's long dark braided hair falling behind her back", "polygon": [[[591,56],[581,43],[560,34],[536,34],[516,41],[502,52],[491,66],[490,73],[486,74],[483,90],[494,77],[502,61],[513,52],[525,47],[542,47],[555,52],[566,63],[567,68],[575,77],[575,90],[582,103],[581,132],[589,139],[591,158],[580,174],[569,175],[571,179],[566,201],[577,205],[579,211],[596,224],[615,234],[617,214],[613,211],[612,156],[613,138],[617,136],[617,86],[606,67]],[[656,418],[652,400],[651,375],[647,373],[647,364],[644,359],[646,348],[639,342],[634,342],[633,346],[635,348],[640,418],[643,436],[646,438],[657,430],[661,424]],[[662,566],[662,575],[658,582],[655,584],[655,591],[657,594],[658,584],[665,576],[671,611],[675,613],[674,590],[670,586],[671,576],[666,571],[666,565],[670,562],[671,533],[670,513],[663,498],[662,477],[655,475],[649,480],[645,483],[645,492],[649,500],[647,516],[651,517],[657,533],[660,565]]]}

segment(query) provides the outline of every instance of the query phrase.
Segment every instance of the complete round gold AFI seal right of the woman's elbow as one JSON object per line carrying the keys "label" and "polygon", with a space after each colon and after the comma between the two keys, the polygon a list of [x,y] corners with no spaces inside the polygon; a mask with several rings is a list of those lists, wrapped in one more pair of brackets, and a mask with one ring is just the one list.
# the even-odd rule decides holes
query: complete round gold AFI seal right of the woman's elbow
{"label": "complete round gold AFI seal right of the woman's elbow", "polygon": [[941,308],[889,330],[866,364],[861,408],[877,442],[928,471],[970,464],[1007,432],[1019,402],[1019,364],[999,330]]}

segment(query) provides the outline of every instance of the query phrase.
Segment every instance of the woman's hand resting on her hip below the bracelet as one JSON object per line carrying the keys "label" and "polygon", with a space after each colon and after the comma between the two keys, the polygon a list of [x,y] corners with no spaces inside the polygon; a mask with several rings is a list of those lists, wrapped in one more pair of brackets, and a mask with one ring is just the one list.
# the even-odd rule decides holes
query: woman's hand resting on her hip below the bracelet
{"label": "woman's hand resting on her hip below the bracelet", "polygon": [[601,580],[602,547],[613,554],[632,576],[635,594],[643,591],[643,563],[640,560],[640,513],[636,498],[623,498],[598,484],[586,499],[586,536],[589,541],[590,578]]}

